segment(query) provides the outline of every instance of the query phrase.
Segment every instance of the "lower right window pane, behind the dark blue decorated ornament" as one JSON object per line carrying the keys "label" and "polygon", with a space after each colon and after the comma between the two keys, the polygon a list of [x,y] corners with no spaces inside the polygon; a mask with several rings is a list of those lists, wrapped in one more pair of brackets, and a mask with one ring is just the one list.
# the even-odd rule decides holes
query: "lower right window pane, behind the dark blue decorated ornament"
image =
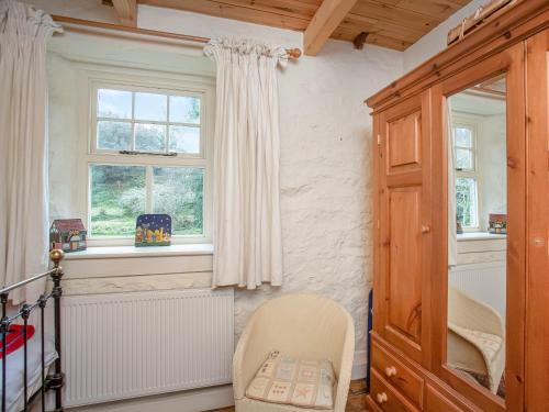
{"label": "lower right window pane, behind the dark blue decorated ornament", "polygon": [[204,170],[192,167],[155,167],[153,179],[154,212],[171,216],[172,234],[202,234]]}

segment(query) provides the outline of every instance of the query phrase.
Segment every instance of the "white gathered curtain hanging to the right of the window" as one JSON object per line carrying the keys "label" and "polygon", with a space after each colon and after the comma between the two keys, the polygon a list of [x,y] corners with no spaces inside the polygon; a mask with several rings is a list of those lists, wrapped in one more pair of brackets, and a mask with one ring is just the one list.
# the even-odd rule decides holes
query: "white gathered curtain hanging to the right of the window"
{"label": "white gathered curtain hanging to the right of the window", "polygon": [[282,282],[277,66],[285,51],[214,40],[217,66],[212,286]]}

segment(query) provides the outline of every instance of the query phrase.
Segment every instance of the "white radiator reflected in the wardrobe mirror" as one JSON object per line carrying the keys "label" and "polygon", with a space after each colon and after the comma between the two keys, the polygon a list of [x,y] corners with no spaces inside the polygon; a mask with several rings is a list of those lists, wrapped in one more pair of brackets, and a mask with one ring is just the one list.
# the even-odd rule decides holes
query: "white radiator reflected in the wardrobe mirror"
{"label": "white radiator reflected in the wardrobe mirror", "polygon": [[449,285],[494,308],[505,322],[506,263],[458,265],[449,270]]}

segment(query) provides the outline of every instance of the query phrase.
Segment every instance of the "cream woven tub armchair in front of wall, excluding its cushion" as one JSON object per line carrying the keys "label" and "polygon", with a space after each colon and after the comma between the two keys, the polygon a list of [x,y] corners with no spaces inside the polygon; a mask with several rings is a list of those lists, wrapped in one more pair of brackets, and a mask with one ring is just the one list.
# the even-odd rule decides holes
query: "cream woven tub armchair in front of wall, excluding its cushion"
{"label": "cream woven tub armchair in front of wall, excluding its cushion", "polygon": [[355,353],[355,325],[341,305],[322,296],[288,294],[257,309],[233,358],[237,412],[305,410],[246,398],[246,388],[267,355],[274,349],[303,359],[330,360],[337,377],[333,411],[345,411]]}

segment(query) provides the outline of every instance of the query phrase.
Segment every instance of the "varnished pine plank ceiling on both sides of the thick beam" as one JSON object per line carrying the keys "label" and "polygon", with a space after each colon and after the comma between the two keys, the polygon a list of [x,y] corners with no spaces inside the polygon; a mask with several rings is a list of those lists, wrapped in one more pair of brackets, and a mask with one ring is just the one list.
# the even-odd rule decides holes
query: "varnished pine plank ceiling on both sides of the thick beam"
{"label": "varnished pine plank ceiling on both sides of the thick beam", "polygon": [[[1,1],[1,0],[0,0]],[[119,0],[127,1],[127,0]],[[403,51],[449,14],[471,0],[136,0],[139,4],[186,10],[219,18],[274,27],[305,31],[306,42],[322,47],[322,38],[312,38],[311,27],[323,36],[352,42],[362,32],[367,44]],[[350,12],[339,13],[339,23],[329,27],[333,11],[355,2]],[[328,10],[328,12],[326,12]],[[324,15],[324,20],[320,19]],[[343,18],[341,18],[343,15]],[[321,20],[321,22],[318,22]],[[337,26],[336,26],[337,25]],[[312,40],[311,40],[312,38]],[[307,54],[314,54],[306,52]],[[317,51],[315,52],[317,53]]]}

